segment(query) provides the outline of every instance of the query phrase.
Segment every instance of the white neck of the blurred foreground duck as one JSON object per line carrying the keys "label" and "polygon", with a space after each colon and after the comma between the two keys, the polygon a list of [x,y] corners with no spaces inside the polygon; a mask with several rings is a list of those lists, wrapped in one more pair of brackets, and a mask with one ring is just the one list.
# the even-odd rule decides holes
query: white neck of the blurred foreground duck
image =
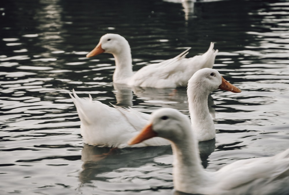
{"label": "white neck of the blurred foreground duck", "polygon": [[210,177],[201,165],[197,140],[192,141],[194,138],[188,137],[171,144],[174,155],[173,182],[176,190],[195,194],[200,193],[200,187]]}

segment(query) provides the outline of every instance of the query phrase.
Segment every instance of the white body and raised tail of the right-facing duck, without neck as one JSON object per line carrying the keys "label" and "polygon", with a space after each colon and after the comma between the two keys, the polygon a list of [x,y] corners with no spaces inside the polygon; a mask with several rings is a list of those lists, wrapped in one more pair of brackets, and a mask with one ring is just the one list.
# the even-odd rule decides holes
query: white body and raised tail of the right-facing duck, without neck
{"label": "white body and raised tail of the right-facing duck, without neck", "polygon": [[[118,106],[110,107],[100,101],[79,98],[73,90],[70,94],[81,121],[80,132],[86,144],[125,148],[130,147],[127,141],[136,135],[150,118],[149,114],[125,109]],[[169,142],[157,138],[135,147],[162,146]]]}

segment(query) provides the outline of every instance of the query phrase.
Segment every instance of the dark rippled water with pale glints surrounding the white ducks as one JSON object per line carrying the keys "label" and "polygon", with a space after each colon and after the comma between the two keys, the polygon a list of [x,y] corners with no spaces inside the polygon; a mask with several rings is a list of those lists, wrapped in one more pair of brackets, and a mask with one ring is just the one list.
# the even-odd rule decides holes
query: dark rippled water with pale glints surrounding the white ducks
{"label": "dark rippled water with pale glints surrounding the white ducks", "polygon": [[5,1],[0,193],[173,193],[170,146],[110,151],[83,144],[68,95],[73,88],[105,104],[147,113],[173,107],[188,115],[185,88],[171,95],[172,89],[114,86],[112,55],[85,57],[105,33],[127,38],[134,70],[186,47],[189,57],[204,53],[215,42],[214,67],[242,93],[211,95],[216,142],[200,146],[207,147],[202,160],[209,171],[288,148],[288,10],[282,0]]}

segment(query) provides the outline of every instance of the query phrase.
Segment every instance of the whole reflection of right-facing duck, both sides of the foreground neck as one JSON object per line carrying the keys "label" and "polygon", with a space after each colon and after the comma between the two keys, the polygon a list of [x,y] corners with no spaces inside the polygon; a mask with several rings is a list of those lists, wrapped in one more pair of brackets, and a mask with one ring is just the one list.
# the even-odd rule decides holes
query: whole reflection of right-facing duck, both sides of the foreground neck
{"label": "whole reflection of right-facing duck, both sides of the foreground neck", "polygon": [[[200,157],[204,168],[208,166],[208,157],[215,150],[215,139],[199,142]],[[81,183],[89,183],[103,178],[113,171],[122,171],[123,168],[141,169],[142,166],[168,166],[170,175],[173,162],[171,146],[149,146],[139,148],[108,148],[84,144],[81,151],[82,171],[79,173]],[[151,165],[153,164],[153,165]],[[153,170],[158,171],[158,170]],[[146,171],[147,172],[147,171]],[[143,174],[143,173],[142,173]],[[146,173],[146,175],[149,173]],[[152,173],[154,175],[154,173]],[[109,177],[108,175],[106,175]],[[131,177],[134,177],[133,175]],[[135,177],[137,177],[135,175]],[[171,184],[173,185],[173,184]]]}

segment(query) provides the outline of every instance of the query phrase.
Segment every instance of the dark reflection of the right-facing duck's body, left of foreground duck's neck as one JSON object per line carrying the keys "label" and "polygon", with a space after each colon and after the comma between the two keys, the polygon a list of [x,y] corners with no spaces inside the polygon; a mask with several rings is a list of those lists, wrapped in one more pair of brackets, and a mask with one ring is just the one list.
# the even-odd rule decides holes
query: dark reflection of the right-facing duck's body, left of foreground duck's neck
{"label": "dark reflection of the right-facing duck's body, left of foreground duck's neck", "polygon": [[[84,144],[81,151],[83,170],[79,174],[79,179],[82,183],[87,183],[101,177],[109,178],[105,173],[122,171],[122,168],[136,168],[155,164],[154,159],[162,155],[172,156],[171,146],[118,149]],[[171,162],[166,164],[171,167]]]}

